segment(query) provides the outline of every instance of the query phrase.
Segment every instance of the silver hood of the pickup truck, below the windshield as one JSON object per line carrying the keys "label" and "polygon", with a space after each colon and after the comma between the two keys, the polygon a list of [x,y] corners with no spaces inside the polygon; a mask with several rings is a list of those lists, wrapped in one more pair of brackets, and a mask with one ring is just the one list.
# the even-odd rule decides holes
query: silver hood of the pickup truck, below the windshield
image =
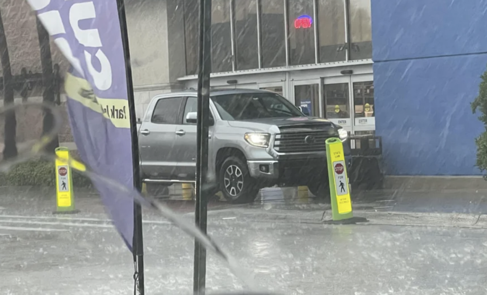
{"label": "silver hood of the pickup truck, below the windshield", "polygon": [[329,120],[323,118],[313,117],[292,117],[292,118],[264,118],[241,121],[228,121],[228,125],[232,127],[243,127],[249,129],[259,129],[261,131],[268,130],[271,126],[309,126],[309,125],[333,125]]}

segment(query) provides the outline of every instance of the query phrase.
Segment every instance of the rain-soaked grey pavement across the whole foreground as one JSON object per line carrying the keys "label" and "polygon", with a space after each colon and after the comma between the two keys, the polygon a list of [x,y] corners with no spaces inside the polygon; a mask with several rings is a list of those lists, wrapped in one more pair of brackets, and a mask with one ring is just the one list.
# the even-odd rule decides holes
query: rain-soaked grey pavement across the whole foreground
{"label": "rain-soaked grey pavement across the whole foreground", "polygon": [[[355,192],[356,214],[383,216],[367,215],[370,223],[347,226],[321,224],[328,205],[312,197],[267,193],[251,205],[212,201],[208,212],[208,232],[261,289],[317,295],[486,291],[487,228],[455,227],[458,220],[448,214],[434,222],[424,218],[421,226],[397,226],[388,217],[399,209],[419,212],[416,219],[427,208],[485,212],[482,192]],[[52,215],[49,191],[12,189],[0,195],[2,293],[132,293],[131,254],[96,196],[79,192],[81,213],[59,216]],[[169,204],[193,219],[193,202],[173,196]],[[193,240],[156,213],[144,215],[146,293],[191,294]],[[438,226],[446,225],[443,215],[453,227]],[[208,294],[243,287],[213,254],[206,277]]]}

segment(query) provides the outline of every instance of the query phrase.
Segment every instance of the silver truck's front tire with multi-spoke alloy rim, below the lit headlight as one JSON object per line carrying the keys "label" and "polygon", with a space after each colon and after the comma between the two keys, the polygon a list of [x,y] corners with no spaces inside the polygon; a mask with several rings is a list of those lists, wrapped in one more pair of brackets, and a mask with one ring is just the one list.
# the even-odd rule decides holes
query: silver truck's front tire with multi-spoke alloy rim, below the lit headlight
{"label": "silver truck's front tire with multi-spoke alloy rim, below the lit headlight", "polygon": [[225,199],[234,204],[251,203],[259,193],[247,163],[238,157],[228,157],[219,174],[220,189]]}

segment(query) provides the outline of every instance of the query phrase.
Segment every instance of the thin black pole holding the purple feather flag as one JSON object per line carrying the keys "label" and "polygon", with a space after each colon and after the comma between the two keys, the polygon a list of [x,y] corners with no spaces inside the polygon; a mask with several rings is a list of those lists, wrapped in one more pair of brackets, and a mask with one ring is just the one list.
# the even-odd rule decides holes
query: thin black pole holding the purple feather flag
{"label": "thin black pole holding the purple feather flag", "polygon": [[[140,192],[142,190],[142,180],[139,167],[138,153],[138,134],[137,121],[135,118],[135,103],[133,99],[132,68],[130,65],[130,50],[128,47],[127,20],[125,18],[125,6],[123,0],[117,0],[118,17],[120,20],[120,30],[122,33],[123,52],[125,57],[125,71],[127,78],[127,97],[130,115],[130,132],[132,133],[132,166],[133,166],[133,185]],[[142,234],[142,208],[138,203],[133,204],[133,262],[135,264],[135,288],[138,293],[144,295],[144,242]],[[136,292],[134,290],[134,293]]]}

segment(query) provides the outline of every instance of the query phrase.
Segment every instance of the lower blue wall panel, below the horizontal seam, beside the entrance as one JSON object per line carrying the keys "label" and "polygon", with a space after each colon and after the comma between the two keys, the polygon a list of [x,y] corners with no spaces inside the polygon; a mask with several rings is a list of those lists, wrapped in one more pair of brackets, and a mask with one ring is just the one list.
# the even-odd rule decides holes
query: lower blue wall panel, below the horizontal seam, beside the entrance
{"label": "lower blue wall panel, below the horizontal seam, beside the entrance", "polygon": [[483,127],[470,102],[486,65],[487,54],[374,63],[387,174],[479,174],[474,138]]}

